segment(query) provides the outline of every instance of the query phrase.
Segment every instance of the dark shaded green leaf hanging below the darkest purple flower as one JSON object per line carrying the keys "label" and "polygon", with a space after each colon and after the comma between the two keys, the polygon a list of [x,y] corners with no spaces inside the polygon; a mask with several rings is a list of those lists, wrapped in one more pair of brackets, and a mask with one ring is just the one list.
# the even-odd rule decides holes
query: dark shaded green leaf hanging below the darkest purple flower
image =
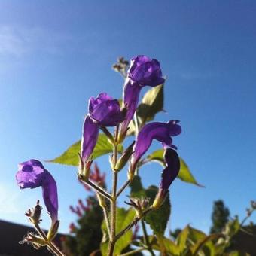
{"label": "dark shaded green leaf hanging below the darkest purple flower", "polygon": [[[154,198],[157,194],[157,187],[151,186],[148,187],[146,192],[146,197],[150,198],[150,204],[154,202]],[[169,194],[166,196],[166,200],[160,209],[149,212],[145,217],[145,221],[150,225],[151,229],[157,236],[163,236],[164,231],[166,230],[166,225],[169,220],[169,215],[171,213],[171,204],[169,200]]]}

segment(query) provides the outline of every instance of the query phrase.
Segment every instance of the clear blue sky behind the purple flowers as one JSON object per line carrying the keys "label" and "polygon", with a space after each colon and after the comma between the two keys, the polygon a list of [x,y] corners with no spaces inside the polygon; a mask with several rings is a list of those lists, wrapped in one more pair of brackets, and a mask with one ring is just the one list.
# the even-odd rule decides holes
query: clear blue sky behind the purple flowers
{"label": "clear blue sky behind the purple flowers", "polygon": [[[253,1],[1,1],[0,219],[27,223],[23,212],[41,190],[19,190],[17,163],[51,159],[80,139],[87,99],[102,91],[120,98],[123,81],[111,64],[138,54],[160,61],[167,114],[157,120],[181,120],[175,145],[206,186],[174,182],[168,227],[208,231],[218,199],[244,216],[256,199],[255,11]],[[98,163],[110,181],[107,157]],[[75,221],[69,205],[87,192],[75,168],[45,166],[66,232]],[[160,171],[145,166],[144,185],[157,185]]]}

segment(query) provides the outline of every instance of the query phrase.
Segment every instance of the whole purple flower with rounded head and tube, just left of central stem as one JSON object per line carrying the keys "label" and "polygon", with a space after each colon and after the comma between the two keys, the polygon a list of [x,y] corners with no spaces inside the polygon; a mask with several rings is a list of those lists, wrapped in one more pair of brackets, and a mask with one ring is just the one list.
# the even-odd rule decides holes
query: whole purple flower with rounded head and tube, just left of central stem
{"label": "whole purple flower with rounded head and tube, just left of central stem", "polygon": [[81,140],[81,158],[87,162],[96,145],[99,126],[116,126],[125,118],[125,112],[121,111],[117,99],[112,99],[107,93],[89,100],[89,114],[84,119],[83,136]]}

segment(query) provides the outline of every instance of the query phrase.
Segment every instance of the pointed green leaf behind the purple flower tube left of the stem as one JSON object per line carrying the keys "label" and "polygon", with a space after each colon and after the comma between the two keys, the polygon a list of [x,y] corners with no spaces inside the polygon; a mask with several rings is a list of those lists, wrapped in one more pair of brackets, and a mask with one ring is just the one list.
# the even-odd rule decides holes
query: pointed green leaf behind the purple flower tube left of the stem
{"label": "pointed green leaf behind the purple flower tube left of the stem", "polygon": [[[78,153],[80,153],[81,141],[75,142],[72,146],[70,146],[63,154],[59,157],[54,158],[53,160],[47,160],[50,163],[60,163],[66,164],[69,166],[78,166]],[[110,142],[108,142],[107,136],[104,133],[99,134],[98,141],[93,150],[92,158],[96,159],[104,154],[111,153],[113,151],[113,146]],[[118,152],[121,153],[123,151],[123,146],[118,146]]]}

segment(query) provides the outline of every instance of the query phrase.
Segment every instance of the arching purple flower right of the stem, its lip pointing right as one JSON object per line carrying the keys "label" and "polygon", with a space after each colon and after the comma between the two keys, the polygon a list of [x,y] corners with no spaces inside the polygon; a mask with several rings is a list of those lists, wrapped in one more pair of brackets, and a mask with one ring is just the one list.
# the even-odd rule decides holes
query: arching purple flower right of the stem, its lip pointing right
{"label": "arching purple flower right of the stem, its lip pointing right", "polygon": [[178,120],[170,120],[168,123],[153,122],[142,127],[134,145],[134,153],[130,163],[129,178],[133,178],[136,164],[139,159],[148,151],[153,139],[162,142],[163,147],[176,148],[172,145],[172,136],[181,133],[181,126]]}

